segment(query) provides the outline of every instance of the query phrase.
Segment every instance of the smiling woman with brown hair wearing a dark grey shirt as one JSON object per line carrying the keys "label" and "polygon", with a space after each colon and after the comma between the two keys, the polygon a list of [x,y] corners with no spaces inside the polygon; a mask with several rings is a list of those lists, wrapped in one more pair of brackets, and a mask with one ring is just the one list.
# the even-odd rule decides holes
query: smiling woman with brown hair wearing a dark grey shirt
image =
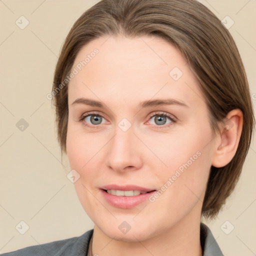
{"label": "smiling woman with brown hair wearing a dark grey shirt", "polygon": [[223,255],[214,218],[254,117],[228,30],[195,0],[102,0],[68,33],[51,92],[58,140],[94,222],[3,255]]}

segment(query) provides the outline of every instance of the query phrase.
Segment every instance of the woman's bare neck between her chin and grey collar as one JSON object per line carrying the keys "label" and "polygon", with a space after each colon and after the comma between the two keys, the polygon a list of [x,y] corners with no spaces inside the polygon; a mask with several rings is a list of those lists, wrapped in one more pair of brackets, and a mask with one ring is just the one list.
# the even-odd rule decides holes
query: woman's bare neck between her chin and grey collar
{"label": "woman's bare neck between her chin and grey collar", "polygon": [[92,255],[130,256],[201,256],[200,218],[182,219],[164,232],[146,239],[121,241],[108,237],[94,225]]}

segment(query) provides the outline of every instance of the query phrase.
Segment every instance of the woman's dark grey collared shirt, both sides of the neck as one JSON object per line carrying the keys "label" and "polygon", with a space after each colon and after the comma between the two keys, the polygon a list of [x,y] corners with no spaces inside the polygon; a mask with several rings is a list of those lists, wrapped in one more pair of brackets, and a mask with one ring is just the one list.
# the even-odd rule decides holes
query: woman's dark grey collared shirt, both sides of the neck
{"label": "woman's dark grey collared shirt, both sides of the neck", "polygon": [[[86,256],[93,229],[80,236],[64,240],[52,241],[40,245],[33,245],[12,252],[1,254],[2,256]],[[224,256],[221,252],[210,229],[200,223],[200,243],[203,256]]]}

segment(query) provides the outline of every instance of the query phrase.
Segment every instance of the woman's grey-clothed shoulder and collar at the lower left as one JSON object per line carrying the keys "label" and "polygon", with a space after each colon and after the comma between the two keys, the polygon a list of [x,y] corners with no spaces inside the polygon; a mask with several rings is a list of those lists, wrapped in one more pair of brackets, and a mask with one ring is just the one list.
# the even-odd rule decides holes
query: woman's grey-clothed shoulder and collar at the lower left
{"label": "woman's grey-clothed shoulder and collar at the lower left", "polygon": [[84,256],[87,253],[93,229],[90,229],[80,236],[63,240],[47,242],[39,245],[28,246],[15,251],[0,254],[1,256],[63,256],[76,255]]}

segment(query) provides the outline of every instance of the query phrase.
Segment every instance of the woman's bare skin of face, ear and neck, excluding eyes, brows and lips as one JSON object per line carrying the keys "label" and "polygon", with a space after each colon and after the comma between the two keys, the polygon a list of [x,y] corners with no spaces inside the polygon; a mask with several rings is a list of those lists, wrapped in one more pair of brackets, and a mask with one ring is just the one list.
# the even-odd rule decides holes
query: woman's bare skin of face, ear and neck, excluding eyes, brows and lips
{"label": "woman's bare skin of face, ear and neck, excluding eyes, brows and lips", "polygon": [[[181,53],[161,38],[100,37],[78,52],[73,67],[94,48],[98,54],[68,85],[66,139],[70,168],[80,175],[76,193],[94,222],[92,255],[201,255],[200,212],[210,166],[232,159],[241,111],[230,111],[229,128],[222,127],[214,137],[193,72]],[[183,72],[176,81],[169,75],[173,67]],[[104,107],[72,104],[79,97],[101,101]],[[139,108],[140,101],[156,98],[187,106]],[[100,124],[93,125],[91,116],[79,121],[91,111],[103,116]],[[157,111],[175,116],[176,122],[166,117],[159,124]],[[123,118],[131,124],[127,131],[118,127]],[[154,202],[123,209],[102,197],[99,187],[112,183],[158,190],[197,151],[200,156]],[[131,226],[125,234],[118,228],[123,221]]]}

